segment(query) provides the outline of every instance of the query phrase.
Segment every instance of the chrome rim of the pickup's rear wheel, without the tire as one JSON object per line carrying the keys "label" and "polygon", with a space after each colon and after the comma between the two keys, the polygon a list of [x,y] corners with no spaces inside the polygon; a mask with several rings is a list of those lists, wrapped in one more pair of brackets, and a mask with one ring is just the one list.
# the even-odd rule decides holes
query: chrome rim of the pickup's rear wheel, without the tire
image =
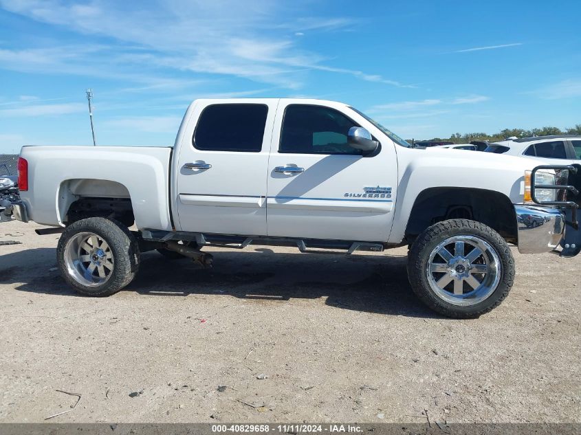
{"label": "chrome rim of the pickup's rear wheel, without the tire", "polygon": [[92,232],[78,233],[65,245],[67,272],[80,285],[97,287],[107,282],[114,263],[109,244]]}

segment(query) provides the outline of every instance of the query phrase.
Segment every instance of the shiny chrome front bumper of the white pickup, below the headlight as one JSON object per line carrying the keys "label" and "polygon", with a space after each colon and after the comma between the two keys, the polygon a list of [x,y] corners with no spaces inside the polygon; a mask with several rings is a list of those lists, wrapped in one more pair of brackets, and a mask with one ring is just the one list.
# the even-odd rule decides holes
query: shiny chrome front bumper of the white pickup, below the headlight
{"label": "shiny chrome front bumper of the white pickup, below the headlight", "polygon": [[515,205],[518,252],[540,254],[558,247],[564,236],[564,214],[555,208]]}

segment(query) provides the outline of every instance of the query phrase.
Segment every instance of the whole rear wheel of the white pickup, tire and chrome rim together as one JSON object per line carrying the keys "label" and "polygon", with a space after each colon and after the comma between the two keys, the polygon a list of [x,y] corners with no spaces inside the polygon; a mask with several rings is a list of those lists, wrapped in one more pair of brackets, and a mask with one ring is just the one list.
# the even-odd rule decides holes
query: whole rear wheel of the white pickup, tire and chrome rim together
{"label": "whole rear wheel of the white pickup, tire and chrome rim together", "polygon": [[78,293],[108,296],[133,280],[140,252],[122,223],[92,217],[67,227],[58,240],[56,259],[61,275]]}

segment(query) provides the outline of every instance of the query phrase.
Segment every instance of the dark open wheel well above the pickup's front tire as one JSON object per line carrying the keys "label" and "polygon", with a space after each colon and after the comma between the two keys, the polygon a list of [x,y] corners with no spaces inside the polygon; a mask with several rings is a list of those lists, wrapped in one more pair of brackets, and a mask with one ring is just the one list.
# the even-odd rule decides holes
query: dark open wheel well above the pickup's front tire
{"label": "dark open wheel well above the pickup's front tire", "polygon": [[412,208],[406,227],[411,243],[430,225],[446,219],[479,221],[498,232],[507,242],[516,243],[514,208],[500,192],[474,188],[430,188],[421,192]]}

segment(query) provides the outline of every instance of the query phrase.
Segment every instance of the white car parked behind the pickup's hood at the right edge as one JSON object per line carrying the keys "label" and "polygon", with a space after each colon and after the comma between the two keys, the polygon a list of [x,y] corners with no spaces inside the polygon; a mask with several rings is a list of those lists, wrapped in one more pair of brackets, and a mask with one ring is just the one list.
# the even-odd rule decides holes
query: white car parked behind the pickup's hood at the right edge
{"label": "white car parked behind the pickup's hood at the right edge", "polygon": [[551,164],[578,163],[581,159],[581,135],[553,135],[494,142],[487,153],[518,155],[542,159]]}

